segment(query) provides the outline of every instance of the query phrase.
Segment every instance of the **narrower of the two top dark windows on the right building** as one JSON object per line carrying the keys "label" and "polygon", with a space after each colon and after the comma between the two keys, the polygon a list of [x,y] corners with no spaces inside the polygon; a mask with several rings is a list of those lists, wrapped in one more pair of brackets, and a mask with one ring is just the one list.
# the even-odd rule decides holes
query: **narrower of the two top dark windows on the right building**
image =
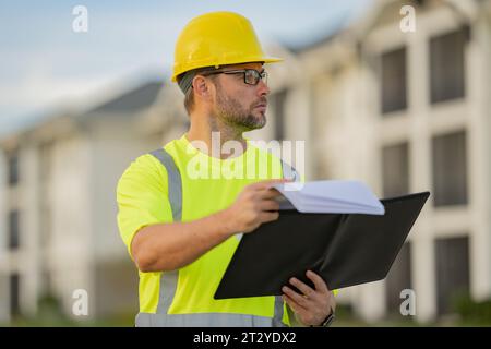
{"label": "narrower of the two top dark windows on the right building", "polygon": [[382,113],[407,108],[406,48],[382,55]]}

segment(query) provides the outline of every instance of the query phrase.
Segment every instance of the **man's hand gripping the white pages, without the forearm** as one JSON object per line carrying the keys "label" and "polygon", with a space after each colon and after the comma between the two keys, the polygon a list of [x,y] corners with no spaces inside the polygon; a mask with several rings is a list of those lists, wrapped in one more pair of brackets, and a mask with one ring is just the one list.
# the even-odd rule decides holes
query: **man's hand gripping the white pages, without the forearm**
{"label": "man's hand gripping the white pages, without the forearm", "polygon": [[247,185],[236,202],[225,210],[229,231],[251,232],[266,221],[279,217],[279,204],[275,197],[280,193],[272,188],[274,183],[286,183],[287,179],[261,181]]}

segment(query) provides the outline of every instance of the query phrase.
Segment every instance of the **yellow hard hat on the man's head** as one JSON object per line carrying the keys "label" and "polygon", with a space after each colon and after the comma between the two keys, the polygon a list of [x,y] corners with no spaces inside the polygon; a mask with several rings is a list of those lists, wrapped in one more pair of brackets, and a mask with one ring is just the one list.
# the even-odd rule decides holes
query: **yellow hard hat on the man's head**
{"label": "yellow hard hat on the man's head", "polygon": [[172,81],[197,68],[279,61],[263,52],[248,19],[233,12],[212,12],[191,20],[179,35]]}

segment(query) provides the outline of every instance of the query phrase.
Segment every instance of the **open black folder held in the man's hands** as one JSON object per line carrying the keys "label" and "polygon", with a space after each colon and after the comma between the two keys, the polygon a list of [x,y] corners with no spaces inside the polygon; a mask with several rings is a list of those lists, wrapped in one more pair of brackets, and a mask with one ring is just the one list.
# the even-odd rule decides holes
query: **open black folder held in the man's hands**
{"label": "open black folder held in the man's hands", "polygon": [[279,296],[311,269],[330,289],[386,277],[429,192],[381,200],[385,214],[302,214],[280,210],[275,221],[242,237],[215,299]]}

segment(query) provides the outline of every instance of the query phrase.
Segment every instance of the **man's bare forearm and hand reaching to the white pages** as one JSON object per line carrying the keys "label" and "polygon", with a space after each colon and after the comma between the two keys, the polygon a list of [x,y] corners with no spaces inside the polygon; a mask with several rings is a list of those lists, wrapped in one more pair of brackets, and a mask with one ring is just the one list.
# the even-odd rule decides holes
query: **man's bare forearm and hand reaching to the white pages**
{"label": "man's bare forearm and hand reaching to the white pages", "polygon": [[143,227],[131,243],[141,272],[179,269],[238,232],[250,232],[278,218],[279,195],[271,180],[248,185],[228,208],[192,221],[173,221]]}

